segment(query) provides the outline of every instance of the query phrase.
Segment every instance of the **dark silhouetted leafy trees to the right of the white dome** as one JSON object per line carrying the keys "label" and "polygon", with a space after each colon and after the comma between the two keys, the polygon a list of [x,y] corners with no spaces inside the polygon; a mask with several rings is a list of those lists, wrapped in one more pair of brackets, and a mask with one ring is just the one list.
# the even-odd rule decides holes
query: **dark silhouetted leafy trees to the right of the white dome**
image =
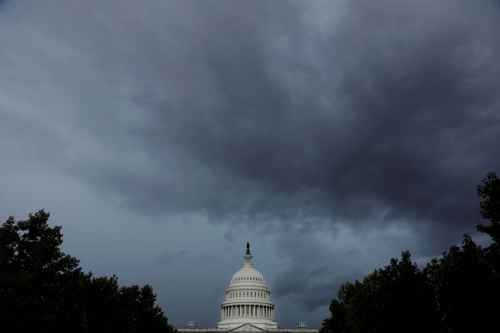
{"label": "dark silhouetted leafy trees to the right of the white dome", "polygon": [[366,275],[362,282],[342,284],[330,303],[331,317],[322,322],[322,333],[429,331],[487,331],[500,320],[500,179],[488,173],[477,185],[483,198],[480,213],[488,225],[477,230],[491,236],[481,248],[464,234],[461,246],[453,245],[442,258],[422,269],[411,263],[408,250],[401,260]]}

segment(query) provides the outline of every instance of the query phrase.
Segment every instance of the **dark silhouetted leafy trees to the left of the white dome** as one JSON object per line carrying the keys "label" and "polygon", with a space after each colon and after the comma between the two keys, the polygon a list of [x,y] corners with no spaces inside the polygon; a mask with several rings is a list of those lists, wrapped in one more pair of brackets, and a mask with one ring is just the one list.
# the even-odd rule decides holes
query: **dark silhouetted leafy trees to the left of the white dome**
{"label": "dark silhouetted leafy trees to the left of the white dome", "polygon": [[176,330],[148,284],[118,286],[92,277],[60,250],[61,227],[39,210],[0,227],[0,322],[14,332],[169,332]]}

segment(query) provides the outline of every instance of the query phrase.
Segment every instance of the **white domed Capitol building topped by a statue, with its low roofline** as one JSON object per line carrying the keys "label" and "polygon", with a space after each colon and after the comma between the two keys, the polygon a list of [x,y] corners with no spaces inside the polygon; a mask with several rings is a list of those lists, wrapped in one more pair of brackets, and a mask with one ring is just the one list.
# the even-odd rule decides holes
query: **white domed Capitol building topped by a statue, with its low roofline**
{"label": "white domed Capitol building topped by a statue, with its low roofline", "polygon": [[225,289],[225,300],[220,305],[220,321],[216,328],[200,328],[196,321],[189,321],[187,327],[177,327],[179,333],[215,332],[310,332],[317,333],[318,328],[307,328],[303,321],[297,322],[297,328],[279,328],[274,321],[274,303],[270,300],[270,290],[265,279],[253,267],[250,245],[246,243],[243,266],[229,281]]}

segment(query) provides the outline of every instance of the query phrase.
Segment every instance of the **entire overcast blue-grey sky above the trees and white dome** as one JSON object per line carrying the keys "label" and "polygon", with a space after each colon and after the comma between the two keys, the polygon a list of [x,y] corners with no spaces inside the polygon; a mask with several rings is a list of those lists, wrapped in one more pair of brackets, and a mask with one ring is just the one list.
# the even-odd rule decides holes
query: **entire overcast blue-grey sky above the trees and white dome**
{"label": "entire overcast blue-grey sky above the trees and white dome", "polygon": [[500,3],[0,0],[0,212],[216,327],[250,243],[280,327],[464,232],[500,171]]}

